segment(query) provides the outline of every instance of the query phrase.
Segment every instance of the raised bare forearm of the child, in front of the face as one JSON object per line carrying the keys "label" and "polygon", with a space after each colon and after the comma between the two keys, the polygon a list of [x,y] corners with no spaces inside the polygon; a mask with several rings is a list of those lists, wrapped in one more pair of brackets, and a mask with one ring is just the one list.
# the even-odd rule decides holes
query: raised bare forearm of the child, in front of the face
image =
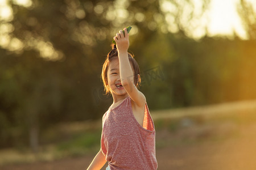
{"label": "raised bare forearm of the child, in front of the face", "polygon": [[127,51],[118,52],[120,79],[123,86],[133,84],[133,70],[128,58]]}

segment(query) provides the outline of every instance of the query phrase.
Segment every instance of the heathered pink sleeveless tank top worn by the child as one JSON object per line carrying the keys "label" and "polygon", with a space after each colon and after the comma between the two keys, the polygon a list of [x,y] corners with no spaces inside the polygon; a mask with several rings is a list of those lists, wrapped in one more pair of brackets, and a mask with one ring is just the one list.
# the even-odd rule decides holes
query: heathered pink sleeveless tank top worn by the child
{"label": "heathered pink sleeveless tank top worn by the child", "polygon": [[102,118],[101,150],[110,169],[156,169],[155,127],[145,104],[143,127],[127,97]]}

